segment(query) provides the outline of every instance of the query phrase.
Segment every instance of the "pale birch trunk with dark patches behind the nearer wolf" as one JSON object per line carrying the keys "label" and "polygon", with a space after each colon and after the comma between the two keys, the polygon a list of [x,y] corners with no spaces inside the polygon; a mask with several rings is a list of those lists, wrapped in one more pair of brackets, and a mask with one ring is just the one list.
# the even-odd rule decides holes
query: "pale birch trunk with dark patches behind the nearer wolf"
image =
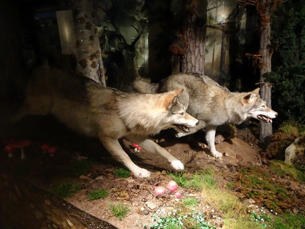
{"label": "pale birch trunk with dark patches behind the nearer wolf", "polygon": [[77,48],[76,69],[84,76],[106,86],[93,2],[74,0],[71,5]]}

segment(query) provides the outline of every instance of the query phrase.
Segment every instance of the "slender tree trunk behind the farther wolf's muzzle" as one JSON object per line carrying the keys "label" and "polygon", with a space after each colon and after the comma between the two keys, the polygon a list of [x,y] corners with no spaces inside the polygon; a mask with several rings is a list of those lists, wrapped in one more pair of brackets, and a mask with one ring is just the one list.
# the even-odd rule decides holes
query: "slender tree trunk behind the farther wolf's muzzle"
{"label": "slender tree trunk behind the farther wolf's muzzle", "polygon": [[[262,55],[259,63],[260,67],[260,96],[266,101],[268,107],[271,108],[271,88],[272,84],[266,82],[264,74],[271,71],[271,56],[270,53],[270,14],[271,14],[271,2],[269,0],[262,0],[260,2],[260,48],[259,53]],[[271,141],[272,124],[260,122],[259,128],[259,141],[261,144],[268,144]]]}

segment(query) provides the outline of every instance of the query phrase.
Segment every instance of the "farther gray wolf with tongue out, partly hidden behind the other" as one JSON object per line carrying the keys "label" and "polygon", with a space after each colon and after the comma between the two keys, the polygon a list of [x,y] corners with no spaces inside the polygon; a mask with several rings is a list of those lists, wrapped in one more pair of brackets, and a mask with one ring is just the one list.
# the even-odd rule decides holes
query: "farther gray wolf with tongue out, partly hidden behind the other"
{"label": "farther gray wolf with tongue out, partly hidden behind the other", "polygon": [[199,120],[199,125],[188,133],[178,132],[176,137],[206,131],[206,141],[215,158],[222,154],[215,149],[216,127],[222,124],[240,124],[249,118],[272,122],[278,113],[267,107],[259,96],[259,88],[252,92],[230,92],[211,78],[196,73],[178,73],[163,79],[160,83],[149,84],[141,78],[134,82],[134,89],[140,93],[164,93],[183,88],[179,101],[188,114]]}

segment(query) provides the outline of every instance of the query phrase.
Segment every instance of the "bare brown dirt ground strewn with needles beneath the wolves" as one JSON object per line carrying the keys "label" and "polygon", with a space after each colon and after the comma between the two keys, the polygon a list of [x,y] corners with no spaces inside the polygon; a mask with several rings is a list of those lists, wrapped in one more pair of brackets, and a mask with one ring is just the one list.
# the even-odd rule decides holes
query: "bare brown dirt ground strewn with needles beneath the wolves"
{"label": "bare brown dirt ground strewn with needles beneath the wolves", "polygon": [[[131,159],[140,167],[153,172],[149,179],[138,179],[133,175],[126,179],[113,175],[116,167],[122,165],[110,157],[98,139],[79,136],[56,120],[46,117],[26,117],[16,124],[2,125],[1,139],[31,140],[32,144],[25,147],[25,160],[20,160],[20,152],[16,151],[13,158],[8,158],[1,146],[1,164],[12,173],[20,173],[27,180],[45,190],[52,190],[61,180],[71,180],[83,184],[83,189],[66,200],[81,210],[105,220],[117,228],[140,228],[140,223],[151,223],[151,215],[159,208],[170,208],[177,205],[174,198],[164,194],[164,198],[156,199],[153,189],[156,186],[167,186],[172,180],[165,171],[174,172],[170,164],[158,156],[145,152],[143,149],[134,152],[131,142],[121,141],[121,145]],[[216,149],[225,152],[222,158],[210,156],[204,141],[204,133],[196,133],[192,137],[175,138],[171,130],[162,132],[154,139],[174,157],[184,163],[188,172],[213,168],[215,178],[220,187],[230,183],[235,174],[232,167],[247,162],[261,165],[257,139],[245,128],[238,131],[237,137],[216,145]],[[245,142],[247,141],[247,143]],[[41,144],[56,147],[53,157],[40,150]],[[86,174],[78,174],[74,178],[66,178],[62,171],[76,160],[88,158],[91,169]],[[58,175],[54,176],[58,172]],[[89,200],[87,193],[99,187],[110,191],[108,197]],[[192,189],[178,187],[181,198],[190,196],[200,200],[200,193]],[[130,207],[128,215],[120,220],[109,213],[109,203],[122,202]]]}

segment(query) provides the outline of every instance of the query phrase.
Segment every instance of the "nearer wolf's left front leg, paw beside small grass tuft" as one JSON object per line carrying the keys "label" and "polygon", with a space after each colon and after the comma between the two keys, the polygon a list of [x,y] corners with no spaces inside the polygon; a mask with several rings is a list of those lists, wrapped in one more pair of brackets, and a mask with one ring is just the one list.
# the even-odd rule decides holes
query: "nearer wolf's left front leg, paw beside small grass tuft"
{"label": "nearer wolf's left front leg, paw beside small grass tuft", "polygon": [[139,178],[148,178],[150,177],[150,172],[146,169],[142,169],[137,166],[125,151],[122,149],[119,141],[117,139],[103,137],[101,139],[104,147],[109,151],[109,153],[118,161],[125,165],[132,173],[135,174],[136,177]]}

